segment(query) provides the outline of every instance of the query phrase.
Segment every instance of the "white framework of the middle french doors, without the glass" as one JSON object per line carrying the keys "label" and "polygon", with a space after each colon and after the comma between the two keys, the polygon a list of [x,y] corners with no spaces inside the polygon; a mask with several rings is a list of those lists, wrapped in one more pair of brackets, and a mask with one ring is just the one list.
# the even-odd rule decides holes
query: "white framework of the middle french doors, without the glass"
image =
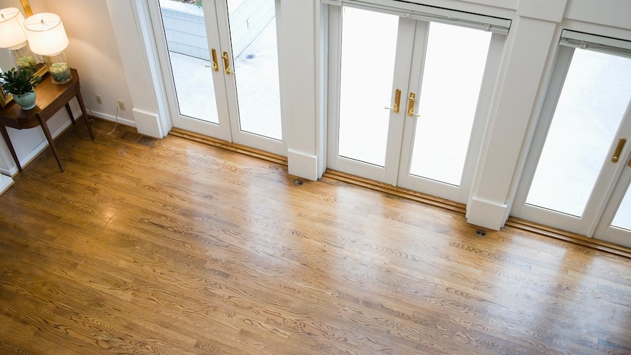
{"label": "white framework of the middle french doors, without the glass", "polygon": [[[473,177],[477,169],[479,155],[482,151],[482,141],[486,128],[484,122],[487,122],[491,114],[491,102],[495,84],[500,74],[501,57],[506,35],[493,33],[491,37],[462,179],[460,185],[455,187],[429,179],[408,176],[412,161],[410,148],[413,143],[412,134],[417,120],[416,118],[409,118],[406,114],[407,98],[410,92],[416,92],[418,89],[417,84],[412,84],[410,78],[418,77],[419,80],[421,80],[422,77],[422,64],[425,58],[428,26],[430,24],[428,21],[412,20],[405,17],[401,17],[399,20],[399,37],[397,38],[398,55],[396,59],[396,69],[394,71],[392,100],[394,100],[394,90],[401,89],[401,111],[399,113],[390,112],[385,167],[376,167],[375,165],[369,165],[338,156],[339,90],[341,77],[338,61],[341,55],[341,17],[342,6],[329,6],[329,125],[327,166],[333,170],[351,172],[352,174],[367,179],[389,183],[390,185],[399,185],[403,188],[423,191],[437,197],[466,203],[473,185]],[[410,38],[406,38],[405,35],[402,35],[410,32],[414,33],[414,44],[407,43],[410,41]],[[417,53],[412,53],[412,51]],[[415,61],[417,63],[421,62],[420,66],[416,65],[412,68],[413,57],[416,57]],[[412,73],[412,71],[414,72]],[[419,100],[417,100],[416,103],[416,110],[418,109],[418,101]],[[403,132],[411,133],[404,134]]]}

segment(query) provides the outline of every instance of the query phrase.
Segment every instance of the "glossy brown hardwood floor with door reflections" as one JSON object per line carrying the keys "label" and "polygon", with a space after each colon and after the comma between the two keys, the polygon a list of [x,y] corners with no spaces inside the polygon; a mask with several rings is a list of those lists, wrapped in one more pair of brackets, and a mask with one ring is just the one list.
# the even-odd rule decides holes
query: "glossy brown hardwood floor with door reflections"
{"label": "glossy brown hardwood floor with door reflections", "polygon": [[631,354],[627,258],[112,127],[0,197],[1,354]]}

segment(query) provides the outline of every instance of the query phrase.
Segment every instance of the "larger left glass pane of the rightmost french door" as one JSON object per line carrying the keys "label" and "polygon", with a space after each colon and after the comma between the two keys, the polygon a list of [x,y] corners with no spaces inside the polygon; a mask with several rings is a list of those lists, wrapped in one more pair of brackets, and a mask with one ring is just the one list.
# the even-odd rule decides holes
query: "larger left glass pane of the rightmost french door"
{"label": "larger left glass pane of the rightmost french door", "polygon": [[574,51],[526,203],[583,215],[631,98],[630,82],[631,59]]}

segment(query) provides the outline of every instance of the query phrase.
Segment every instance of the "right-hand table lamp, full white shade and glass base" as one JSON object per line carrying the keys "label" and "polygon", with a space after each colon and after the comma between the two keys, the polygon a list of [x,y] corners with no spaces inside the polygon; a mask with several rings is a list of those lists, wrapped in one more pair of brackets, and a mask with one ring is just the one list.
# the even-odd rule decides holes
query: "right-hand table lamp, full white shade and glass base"
{"label": "right-hand table lamp, full white shade and glass base", "polygon": [[53,82],[69,82],[72,75],[64,53],[68,46],[68,36],[62,19],[51,12],[42,12],[28,17],[24,21],[24,28],[30,50],[44,56]]}

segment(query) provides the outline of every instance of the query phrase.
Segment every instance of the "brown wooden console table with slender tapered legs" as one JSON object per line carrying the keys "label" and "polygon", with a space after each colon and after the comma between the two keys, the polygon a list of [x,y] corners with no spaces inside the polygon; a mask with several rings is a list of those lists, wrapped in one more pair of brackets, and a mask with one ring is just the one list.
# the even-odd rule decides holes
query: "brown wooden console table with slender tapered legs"
{"label": "brown wooden console table with slender tapered legs", "polygon": [[79,74],[75,69],[71,69],[71,71],[73,76],[72,80],[62,85],[53,84],[50,74],[46,73],[44,75],[42,83],[35,87],[37,98],[35,99],[34,109],[24,111],[17,103],[10,102],[6,105],[6,107],[0,110],[0,131],[11,152],[11,155],[13,156],[17,169],[20,172],[22,171],[22,167],[17,160],[17,155],[15,155],[15,149],[13,149],[13,144],[7,134],[6,127],[15,129],[28,129],[37,126],[42,127],[42,131],[44,131],[44,135],[46,135],[46,140],[48,140],[48,145],[50,145],[51,149],[53,149],[53,154],[55,154],[57,163],[60,165],[60,169],[63,172],[64,166],[57,154],[57,148],[55,148],[51,132],[48,131],[46,121],[48,121],[55,113],[57,113],[57,111],[65,106],[66,111],[68,111],[70,119],[74,125],[75,118],[73,117],[70,105],[68,104],[72,98],[77,98],[83,115],[83,120],[86,122],[86,127],[88,127],[88,131],[90,132],[90,138],[94,140],[92,127],[90,127],[88,122],[88,113],[86,113],[85,104],[83,103],[83,98],[81,97]]}

